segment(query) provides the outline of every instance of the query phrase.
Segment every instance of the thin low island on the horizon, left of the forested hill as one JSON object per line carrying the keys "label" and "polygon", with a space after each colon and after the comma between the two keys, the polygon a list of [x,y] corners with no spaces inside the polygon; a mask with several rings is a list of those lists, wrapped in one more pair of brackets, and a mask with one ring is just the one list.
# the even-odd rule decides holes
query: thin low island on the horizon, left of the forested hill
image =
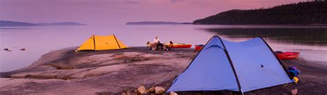
{"label": "thin low island on the horizon, left of the forested hill", "polygon": [[192,24],[192,23],[177,23],[177,22],[165,22],[165,21],[139,21],[139,22],[126,23],[126,25],[161,25],[161,24]]}

